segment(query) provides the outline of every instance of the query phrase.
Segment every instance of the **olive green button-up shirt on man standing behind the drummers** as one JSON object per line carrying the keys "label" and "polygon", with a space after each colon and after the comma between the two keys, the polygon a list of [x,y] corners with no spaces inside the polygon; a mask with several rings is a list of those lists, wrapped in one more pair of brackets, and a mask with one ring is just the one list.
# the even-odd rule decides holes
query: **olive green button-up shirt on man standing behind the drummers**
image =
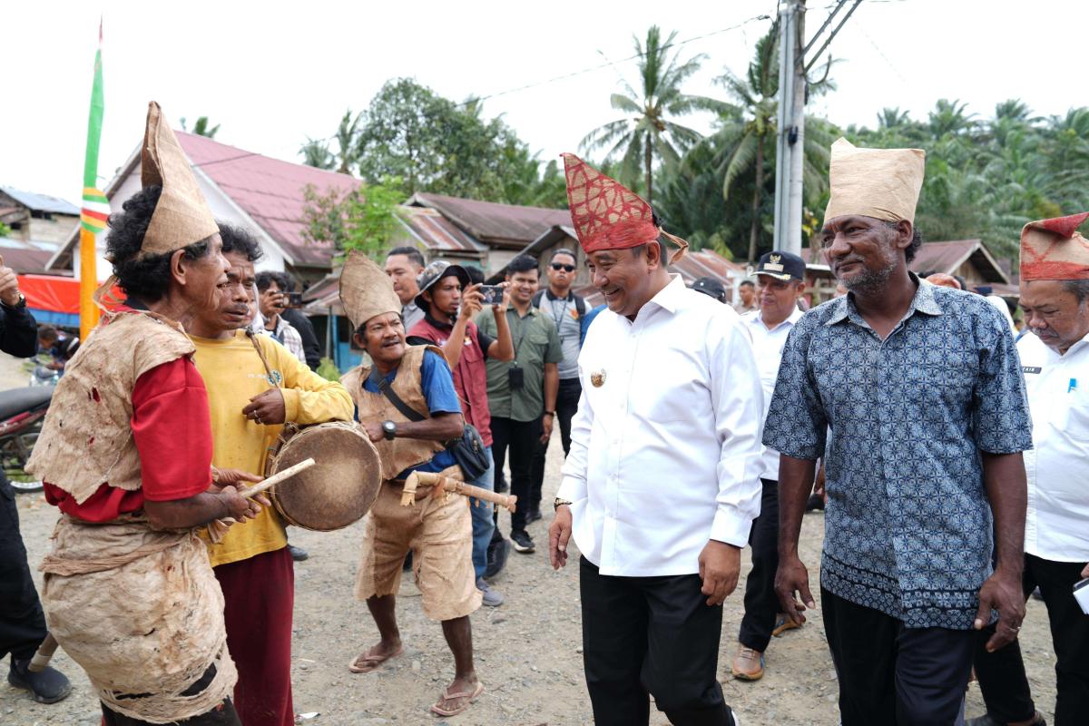
{"label": "olive green button-up shirt on man standing behind the drummers", "polygon": [[[476,318],[481,333],[499,336],[495,316],[491,309],[482,310]],[[555,323],[539,309],[530,307],[523,317],[512,305],[506,309],[506,324],[511,328],[514,360],[488,359],[488,408],[492,418],[515,421],[535,421],[544,413],[544,364],[560,364],[563,348]],[[511,368],[521,368],[525,384],[511,391]]]}

